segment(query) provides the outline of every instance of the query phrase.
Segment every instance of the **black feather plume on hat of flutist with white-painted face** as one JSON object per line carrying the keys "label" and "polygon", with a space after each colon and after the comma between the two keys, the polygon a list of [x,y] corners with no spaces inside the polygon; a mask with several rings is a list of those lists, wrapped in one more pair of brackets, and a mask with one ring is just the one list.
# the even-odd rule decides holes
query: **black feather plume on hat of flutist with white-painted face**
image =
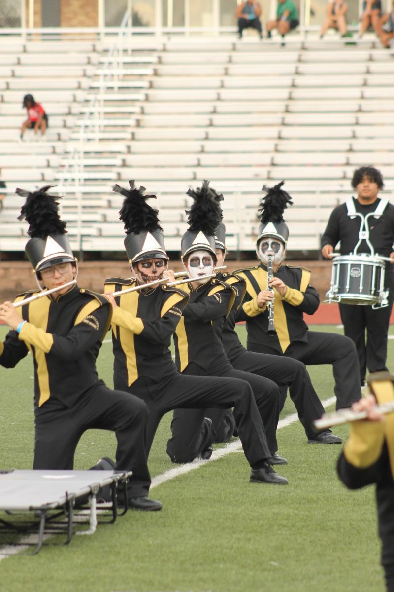
{"label": "black feather plume on hat of flutist with white-painted face", "polygon": [[209,181],[204,181],[198,189],[188,189],[186,193],[194,200],[190,210],[186,211],[189,230],[202,231],[207,236],[213,236],[223,218],[219,205],[223,195],[211,189]]}

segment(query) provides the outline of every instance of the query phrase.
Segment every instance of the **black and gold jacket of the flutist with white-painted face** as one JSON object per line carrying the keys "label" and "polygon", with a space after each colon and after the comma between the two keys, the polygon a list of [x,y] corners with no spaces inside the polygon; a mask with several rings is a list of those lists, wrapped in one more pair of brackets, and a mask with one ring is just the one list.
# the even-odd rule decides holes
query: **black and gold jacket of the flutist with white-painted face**
{"label": "black and gold jacket of the flutist with white-painted face", "polygon": [[178,370],[183,372],[190,362],[207,370],[221,357],[228,364],[222,330],[235,302],[235,290],[217,278],[196,289],[190,284],[187,287],[190,299],[174,334]]}

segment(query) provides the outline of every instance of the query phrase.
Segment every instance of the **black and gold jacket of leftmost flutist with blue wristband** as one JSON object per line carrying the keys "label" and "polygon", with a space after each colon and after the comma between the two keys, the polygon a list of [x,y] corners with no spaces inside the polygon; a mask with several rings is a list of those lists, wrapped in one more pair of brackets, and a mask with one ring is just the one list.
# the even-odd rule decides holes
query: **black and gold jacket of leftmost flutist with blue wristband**
{"label": "black and gold jacket of leftmost flutist with blue wristband", "polygon": [[[38,292],[38,291],[36,291]],[[23,301],[34,292],[18,296]],[[30,351],[34,361],[34,402],[49,398],[72,407],[98,381],[96,358],[108,332],[112,307],[107,298],[74,286],[56,302],[44,296],[17,308],[27,321],[0,342],[0,364],[13,368]]]}

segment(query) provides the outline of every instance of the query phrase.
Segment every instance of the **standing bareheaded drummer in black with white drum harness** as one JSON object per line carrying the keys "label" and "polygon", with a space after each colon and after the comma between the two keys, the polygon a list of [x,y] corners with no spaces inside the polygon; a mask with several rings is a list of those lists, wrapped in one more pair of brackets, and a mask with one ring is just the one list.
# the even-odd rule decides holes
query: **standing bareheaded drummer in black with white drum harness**
{"label": "standing bareheaded drummer in black with white drum harness", "polygon": [[[351,186],[356,189],[357,197],[349,198],[331,213],[321,239],[321,252],[325,259],[331,258],[334,247],[340,242],[341,255],[353,253],[356,247],[357,253],[371,253],[372,246],[375,254],[389,257],[394,263],[394,206],[388,200],[377,197],[383,185],[382,173],[372,166],[362,166],[354,171]],[[366,220],[366,215],[372,212],[376,215]],[[352,217],[352,213],[357,215]],[[365,220],[361,237],[360,224]],[[339,305],[344,333],[357,348],[362,385],[367,367],[370,372],[387,370],[387,334],[394,298],[394,269],[390,263],[386,265],[385,289],[389,291],[387,307],[374,309],[364,305]]]}

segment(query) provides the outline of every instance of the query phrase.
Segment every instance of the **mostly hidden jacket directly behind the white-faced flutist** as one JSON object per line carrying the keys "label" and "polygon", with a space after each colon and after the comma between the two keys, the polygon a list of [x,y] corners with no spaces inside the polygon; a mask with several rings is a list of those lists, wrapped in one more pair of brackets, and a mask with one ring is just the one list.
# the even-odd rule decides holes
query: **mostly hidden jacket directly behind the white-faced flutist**
{"label": "mostly hidden jacket directly behind the white-faced flutist", "polygon": [[239,340],[238,334],[235,330],[237,311],[243,302],[246,294],[246,281],[237,275],[229,274],[224,272],[223,274],[217,274],[217,279],[220,279],[226,284],[229,284],[235,292],[235,301],[229,315],[223,324],[222,341],[224,351],[226,352],[227,358],[230,362],[237,358],[241,353],[245,352],[246,349],[243,347]]}

